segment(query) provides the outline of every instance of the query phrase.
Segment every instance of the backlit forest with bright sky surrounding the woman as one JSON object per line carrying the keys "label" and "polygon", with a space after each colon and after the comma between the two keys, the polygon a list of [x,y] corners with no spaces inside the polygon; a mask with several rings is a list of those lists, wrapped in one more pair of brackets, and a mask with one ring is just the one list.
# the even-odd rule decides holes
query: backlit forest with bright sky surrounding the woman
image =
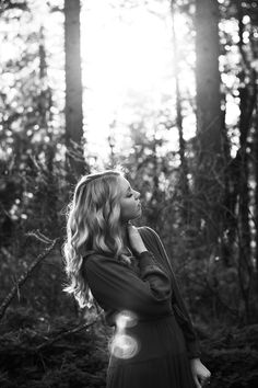
{"label": "backlit forest with bright sky surrounding the woman", "polygon": [[63,292],[66,212],[121,168],[211,370],[258,385],[258,0],[0,2],[0,387],[104,388],[110,329]]}

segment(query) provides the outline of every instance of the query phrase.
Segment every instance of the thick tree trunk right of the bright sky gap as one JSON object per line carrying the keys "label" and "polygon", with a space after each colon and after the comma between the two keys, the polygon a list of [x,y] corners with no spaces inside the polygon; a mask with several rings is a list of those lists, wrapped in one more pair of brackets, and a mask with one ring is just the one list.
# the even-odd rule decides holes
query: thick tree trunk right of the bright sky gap
{"label": "thick tree trunk right of the bright sky gap", "polygon": [[[196,218],[213,250],[221,235],[223,197],[223,141],[219,71],[219,5],[196,0],[197,164]],[[212,248],[213,247],[213,248]]]}

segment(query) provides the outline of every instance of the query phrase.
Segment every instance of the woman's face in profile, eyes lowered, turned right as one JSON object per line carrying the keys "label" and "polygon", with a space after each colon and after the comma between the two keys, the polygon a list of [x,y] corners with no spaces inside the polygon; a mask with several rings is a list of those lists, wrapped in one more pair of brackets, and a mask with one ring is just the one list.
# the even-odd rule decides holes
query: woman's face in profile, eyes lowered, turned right
{"label": "woman's face in profile, eyes lowered, turned right", "polygon": [[130,219],[141,216],[140,193],[131,189],[130,183],[124,178],[118,178],[118,184],[121,190],[120,206],[121,220],[129,221]]}

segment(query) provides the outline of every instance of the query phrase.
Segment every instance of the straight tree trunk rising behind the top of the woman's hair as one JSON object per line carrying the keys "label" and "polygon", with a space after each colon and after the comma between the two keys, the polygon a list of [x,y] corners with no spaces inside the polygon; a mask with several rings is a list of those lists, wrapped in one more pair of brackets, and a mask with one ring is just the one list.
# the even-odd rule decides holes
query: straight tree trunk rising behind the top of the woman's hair
{"label": "straight tree trunk rising behind the top of the woman's hair", "polygon": [[80,52],[80,0],[64,0],[66,145],[70,178],[84,172],[82,152],[82,79]]}

